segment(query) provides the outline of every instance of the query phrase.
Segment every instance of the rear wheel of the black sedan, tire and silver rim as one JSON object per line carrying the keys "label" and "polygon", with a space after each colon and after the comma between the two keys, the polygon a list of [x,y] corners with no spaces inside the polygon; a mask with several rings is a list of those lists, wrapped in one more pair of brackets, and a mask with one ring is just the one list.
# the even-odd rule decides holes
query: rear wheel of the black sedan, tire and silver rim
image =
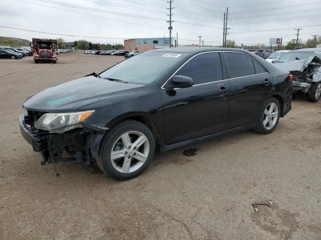
{"label": "rear wheel of the black sedan, tire and silver rim", "polygon": [[[270,111],[271,106],[273,106],[272,112]],[[269,98],[264,103],[259,114],[257,127],[255,127],[253,130],[261,134],[271,133],[279,122],[280,112],[281,107],[279,101],[274,97]]]}

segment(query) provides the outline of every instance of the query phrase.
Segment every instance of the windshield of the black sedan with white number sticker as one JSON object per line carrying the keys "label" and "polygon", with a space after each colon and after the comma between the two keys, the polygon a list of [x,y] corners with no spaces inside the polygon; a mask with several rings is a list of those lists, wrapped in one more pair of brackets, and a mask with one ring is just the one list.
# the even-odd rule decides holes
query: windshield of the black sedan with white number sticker
{"label": "windshield of the black sedan with white number sticker", "polygon": [[136,83],[150,83],[181,59],[184,53],[143,52],[102,72],[102,78],[114,78]]}

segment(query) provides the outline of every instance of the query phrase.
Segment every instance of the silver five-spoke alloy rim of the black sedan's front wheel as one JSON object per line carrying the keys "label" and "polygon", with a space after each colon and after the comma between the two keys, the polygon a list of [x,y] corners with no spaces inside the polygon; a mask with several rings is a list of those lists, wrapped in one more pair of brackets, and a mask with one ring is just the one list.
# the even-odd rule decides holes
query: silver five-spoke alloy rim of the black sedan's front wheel
{"label": "silver five-spoke alloy rim of the black sedan's front wheel", "polygon": [[113,167],[122,173],[138,170],[149,154],[149,142],[140,131],[123,133],[113,144],[110,159]]}

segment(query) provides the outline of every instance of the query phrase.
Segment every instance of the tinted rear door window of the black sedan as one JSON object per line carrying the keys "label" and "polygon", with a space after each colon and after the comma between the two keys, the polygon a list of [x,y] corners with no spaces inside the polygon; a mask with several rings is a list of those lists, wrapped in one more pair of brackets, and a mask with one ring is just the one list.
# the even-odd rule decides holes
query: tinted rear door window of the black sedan
{"label": "tinted rear door window of the black sedan", "polygon": [[247,54],[239,52],[224,52],[224,58],[228,64],[230,78],[255,74],[252,58]]}

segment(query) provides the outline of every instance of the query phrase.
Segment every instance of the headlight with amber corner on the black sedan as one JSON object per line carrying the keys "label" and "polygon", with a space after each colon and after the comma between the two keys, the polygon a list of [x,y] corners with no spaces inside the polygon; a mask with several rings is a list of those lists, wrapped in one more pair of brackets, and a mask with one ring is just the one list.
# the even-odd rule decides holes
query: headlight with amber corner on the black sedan
{"label": "headlight with amber corner on the black sedan", "polygon": [[37,129],[61,133],[79,127],[94,110],[79,112],[50,112],[43,114],[35,123]]}

